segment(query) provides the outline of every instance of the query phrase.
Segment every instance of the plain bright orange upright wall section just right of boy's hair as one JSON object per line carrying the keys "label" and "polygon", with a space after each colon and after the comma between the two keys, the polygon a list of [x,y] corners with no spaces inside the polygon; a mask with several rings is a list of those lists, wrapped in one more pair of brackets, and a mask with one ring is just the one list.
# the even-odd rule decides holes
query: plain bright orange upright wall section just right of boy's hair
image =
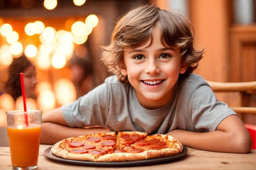
{"label": "plain bright orange upright wall section just right of boy's hair", "polygon": [[227,81],[228,78],[228,16],[223,0],[191,0],[191,21],[195,29],[195,44],[205,49],[204,58],[195,73],[207,80]]}

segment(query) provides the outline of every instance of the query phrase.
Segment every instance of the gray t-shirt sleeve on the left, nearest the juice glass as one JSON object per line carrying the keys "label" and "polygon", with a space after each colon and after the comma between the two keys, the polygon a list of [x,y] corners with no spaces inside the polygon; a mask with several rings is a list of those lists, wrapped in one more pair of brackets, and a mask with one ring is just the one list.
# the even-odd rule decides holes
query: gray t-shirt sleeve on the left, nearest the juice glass
{"label": "gray t-shirt sleeve on the left, nearest the juice glass", "polygon": [[75,102],[62,106],[70,127],[105,126],[109,110],[109,90],[106,83],[97,86]]}

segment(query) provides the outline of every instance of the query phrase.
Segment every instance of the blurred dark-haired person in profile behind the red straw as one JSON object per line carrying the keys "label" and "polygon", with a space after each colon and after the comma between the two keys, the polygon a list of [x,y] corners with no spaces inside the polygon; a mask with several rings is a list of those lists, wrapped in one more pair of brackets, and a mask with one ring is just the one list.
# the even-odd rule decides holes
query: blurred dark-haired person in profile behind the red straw
{"label": "blurred dark-haired person in profile behind the red straw", "polygon": [[5,92],[10,94],[14,101],[22,96],[20,73],[23,73],[26,98],[36,99],[35,90],[38,84],[36,67],[25,55],[13,58],[8,70],[8,80],[4,86]]}

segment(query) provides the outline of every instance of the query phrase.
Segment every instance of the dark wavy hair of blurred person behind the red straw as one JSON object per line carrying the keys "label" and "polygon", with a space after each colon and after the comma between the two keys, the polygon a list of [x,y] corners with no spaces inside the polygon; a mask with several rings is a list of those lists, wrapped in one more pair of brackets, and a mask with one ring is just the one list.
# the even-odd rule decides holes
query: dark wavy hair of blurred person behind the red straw
{"label": "dark wavy hair of blurred person behind the red straw", "polygon": [[13,62],[8,68],[9,77],[7,82],[4,84],[6,93],[10,94],[14,100],[22,95],[20,85],[20,73],[22,73],[28,66],[31,66],[30,62],[25,55],[21,55],[18,58],[13,58]]}

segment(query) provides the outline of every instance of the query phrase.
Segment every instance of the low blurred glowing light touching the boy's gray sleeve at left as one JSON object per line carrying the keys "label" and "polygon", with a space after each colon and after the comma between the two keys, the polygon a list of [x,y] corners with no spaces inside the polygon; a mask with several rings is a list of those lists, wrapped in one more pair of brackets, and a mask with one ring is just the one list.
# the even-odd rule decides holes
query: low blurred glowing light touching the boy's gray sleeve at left
{"label": "low blurred glowing light touching the boy's gray sleeve at left", "polygon": [[54,84],[56,100],[59,104],[69,104],[76,100],[76,88],[69,79],[59,79]]}

